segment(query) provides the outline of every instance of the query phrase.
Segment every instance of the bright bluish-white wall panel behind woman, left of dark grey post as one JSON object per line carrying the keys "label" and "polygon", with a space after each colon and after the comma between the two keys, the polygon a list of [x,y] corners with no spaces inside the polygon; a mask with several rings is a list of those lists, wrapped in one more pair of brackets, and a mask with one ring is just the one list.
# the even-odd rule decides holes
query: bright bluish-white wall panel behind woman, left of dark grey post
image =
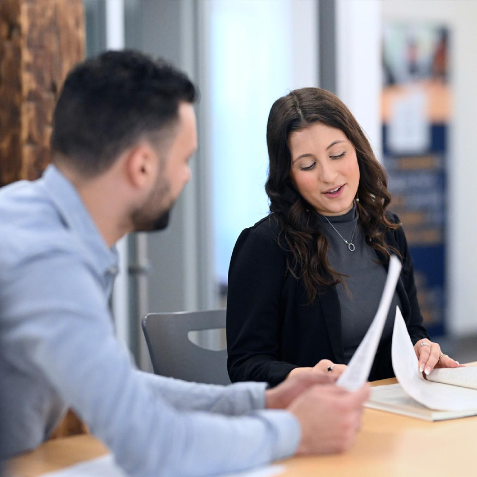
{"label": "bright bluish-white wall panel behind woman, left of dark grey post", "polygon": [[210,0],[200,9],[199,153],[210,160],[214,279],[226,283],[239,233],[269,211],[270,107],[318,84],[318,11],[316,0]]}

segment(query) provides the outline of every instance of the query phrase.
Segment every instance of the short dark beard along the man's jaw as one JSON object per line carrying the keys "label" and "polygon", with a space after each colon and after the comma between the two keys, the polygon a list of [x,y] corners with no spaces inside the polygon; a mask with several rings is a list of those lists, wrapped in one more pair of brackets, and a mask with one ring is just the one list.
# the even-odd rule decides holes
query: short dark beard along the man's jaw
{"label": "short dark beard along the man's jaw", "polygon": [[169,181],[164,178],[160,179],[156,189],[146,200],[145,205],[135,210],[131,216],[135,232],[155,232],[164,230],[167,227],[174,202],[171,202],[165,209],[159,210],[154,214],[151,213],[151,210],[154,210],[157,203],[164,201],[164,197],[167,197],[169,190]]}

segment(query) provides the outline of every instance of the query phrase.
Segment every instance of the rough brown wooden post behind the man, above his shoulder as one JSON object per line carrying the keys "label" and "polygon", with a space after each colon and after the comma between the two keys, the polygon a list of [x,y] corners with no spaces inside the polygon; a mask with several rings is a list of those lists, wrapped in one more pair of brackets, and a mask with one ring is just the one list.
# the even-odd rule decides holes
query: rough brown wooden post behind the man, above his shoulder
{"label": "rough brown wooden post behind the man, above his shoulder", "polygon": [[0,186],[50,162],[54,104],[84,49],[82,0],[0,2]]}

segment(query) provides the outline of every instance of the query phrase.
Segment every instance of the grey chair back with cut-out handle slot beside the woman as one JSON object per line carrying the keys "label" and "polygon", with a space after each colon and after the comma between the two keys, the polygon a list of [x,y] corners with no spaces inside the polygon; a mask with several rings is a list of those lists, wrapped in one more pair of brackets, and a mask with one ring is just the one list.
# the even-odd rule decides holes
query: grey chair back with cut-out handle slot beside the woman
{"label": "grey chair back with cut-out handle slot beside the woman", "polygon": [[154,372],[197,383],[230,384],[227,350],[205,349],[190,331],[225,328],[225,310],[149,313],[142,319]]}

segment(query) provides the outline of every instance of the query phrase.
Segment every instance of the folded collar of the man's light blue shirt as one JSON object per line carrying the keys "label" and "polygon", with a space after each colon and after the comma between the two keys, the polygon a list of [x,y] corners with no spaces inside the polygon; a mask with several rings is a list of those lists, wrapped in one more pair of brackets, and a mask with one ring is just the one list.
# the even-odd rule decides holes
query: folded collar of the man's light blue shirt
{"label": "folded collar of the man's light blue shirt", "polygon": [[45,169],[40,181],[62,220],[78,236],[94,265],[101,273],[114,275],[118,268],[117,250],[107,246],[76,187],[52,164]]}

